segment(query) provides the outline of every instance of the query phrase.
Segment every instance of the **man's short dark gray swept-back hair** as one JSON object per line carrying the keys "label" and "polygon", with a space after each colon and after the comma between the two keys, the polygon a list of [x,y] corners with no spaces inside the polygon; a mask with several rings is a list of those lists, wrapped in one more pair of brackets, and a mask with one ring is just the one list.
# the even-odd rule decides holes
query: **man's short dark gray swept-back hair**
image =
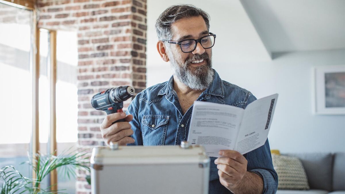
{"label": "man's short dark gray swept-back hair", "polygon": [[202,9],[199,9],[191,4],[178,4],[168,7],[163,11],[156,21],[156,31],[158,40],[171,40],[172,32],[171,25],[183,18],[202,16],[205,20],[207,30],[210,29],[210,17]]}

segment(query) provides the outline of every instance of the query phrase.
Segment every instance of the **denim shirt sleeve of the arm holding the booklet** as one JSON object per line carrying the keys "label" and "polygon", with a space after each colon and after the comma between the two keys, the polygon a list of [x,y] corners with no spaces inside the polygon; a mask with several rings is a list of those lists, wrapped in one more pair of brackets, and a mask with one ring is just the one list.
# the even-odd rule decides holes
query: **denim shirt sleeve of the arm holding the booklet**
{"label": "denim shirt sleeve of the arm holding the booklet", "polygon": [[[250,94],[247,105],[256,100],[255,96]],[[265,144],[244,155],[248,161],[247,171],[258,174],[263,182],[263,194],[274,194],[278,188],[278,175],[273,168],[272,156],[269,148],[268,139]]]}

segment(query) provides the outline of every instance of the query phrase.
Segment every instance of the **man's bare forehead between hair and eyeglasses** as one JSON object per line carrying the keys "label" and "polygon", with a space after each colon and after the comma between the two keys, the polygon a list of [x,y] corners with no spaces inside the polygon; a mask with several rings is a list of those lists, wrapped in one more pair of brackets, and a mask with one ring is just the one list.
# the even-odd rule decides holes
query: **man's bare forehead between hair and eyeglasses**
{"label": "man's bare forehead between hair and eyeglasses", "polygon": [[208,30],[202,16],[180,19],[171,26],[173,40],[198,38],[207,35]]}

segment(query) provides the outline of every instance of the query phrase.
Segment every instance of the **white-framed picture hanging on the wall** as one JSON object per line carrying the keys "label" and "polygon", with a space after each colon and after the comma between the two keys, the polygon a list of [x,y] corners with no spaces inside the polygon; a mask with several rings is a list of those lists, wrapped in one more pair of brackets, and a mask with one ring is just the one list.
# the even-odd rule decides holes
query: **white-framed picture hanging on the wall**
{"label": "white-framed picture hanging on the wall", "polygon": [[314,113],[345,115],[345,65],[314,68]]}

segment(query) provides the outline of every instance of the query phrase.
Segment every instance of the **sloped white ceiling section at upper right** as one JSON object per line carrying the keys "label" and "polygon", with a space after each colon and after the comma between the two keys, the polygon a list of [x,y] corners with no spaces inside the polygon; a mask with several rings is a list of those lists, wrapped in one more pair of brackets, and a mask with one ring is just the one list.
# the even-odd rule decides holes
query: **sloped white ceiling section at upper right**
{"label": "sloped white ceiling section at upper right", "polygon": [[240,0],[269,52],[345,47],[345,0]]}

